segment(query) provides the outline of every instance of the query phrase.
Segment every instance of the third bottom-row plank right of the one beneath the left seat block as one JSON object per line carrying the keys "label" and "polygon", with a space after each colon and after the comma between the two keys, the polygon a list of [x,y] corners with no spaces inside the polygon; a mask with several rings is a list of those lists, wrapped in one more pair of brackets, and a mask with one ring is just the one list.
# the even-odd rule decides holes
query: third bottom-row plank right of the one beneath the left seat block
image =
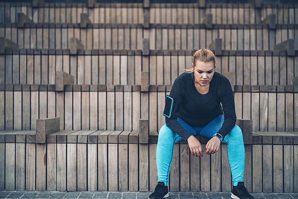
{"label": "third bottom-row plank right of the one beneath the left seat block", "polygon": [[67,191],[76,191],[77,178],[77,155],[76,144],[67,144]]}

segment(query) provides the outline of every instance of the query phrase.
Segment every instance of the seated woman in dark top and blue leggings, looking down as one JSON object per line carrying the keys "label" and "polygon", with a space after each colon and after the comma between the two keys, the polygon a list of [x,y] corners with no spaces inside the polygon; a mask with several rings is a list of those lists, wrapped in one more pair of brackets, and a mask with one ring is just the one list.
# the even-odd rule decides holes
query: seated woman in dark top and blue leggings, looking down
{"label": "seated woman in dark top and blue leggings, looking down", "polygon": [[169,196],[167,183],[174,143],[185,140],[192,155],[203,157],[201,143],[195,135],[210,138],[205,148],[208,155],[216,153],[222,141],[226,143],[233,182],[231,198],[253,199],[243,183],[245,152],[241,129],[235,125],[231,85],[215,72],[215,56],[211,50],[198,50],[191,65],[190,70],[175,80],[165,104],[165,124],[159,130],[156,148],[158,184],[149,199]]}

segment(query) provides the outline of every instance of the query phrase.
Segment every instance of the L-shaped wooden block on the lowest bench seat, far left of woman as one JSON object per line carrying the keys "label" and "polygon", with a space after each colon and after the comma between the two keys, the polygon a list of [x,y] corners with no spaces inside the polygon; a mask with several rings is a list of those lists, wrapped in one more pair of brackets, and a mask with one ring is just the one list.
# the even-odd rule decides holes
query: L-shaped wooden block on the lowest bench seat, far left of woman
{"label": "L-shaped wooden block on the lowest bench seat, far left of woman", "polygon": [[36,143],[46,143],[47,134],[60,131],[60,118],[36,120]]}

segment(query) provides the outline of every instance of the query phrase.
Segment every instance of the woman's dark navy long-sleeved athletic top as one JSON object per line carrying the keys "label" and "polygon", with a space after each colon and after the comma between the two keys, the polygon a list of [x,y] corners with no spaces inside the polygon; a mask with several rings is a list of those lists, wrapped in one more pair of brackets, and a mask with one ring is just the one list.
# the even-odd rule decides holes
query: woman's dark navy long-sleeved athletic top
{"label": "woman's dark navy long-sleeved athletic top", "polygon": [[165,118],[166,125],[185,141],[192,134],[180,125],[177,117],[192,127],[203,127],[224,114],[224,123],[218,132],[223,138],[235,126],[233,91],[228,79],[220,73],[214,73],[209,92],[205,95],[197,91],[193,73],[183,73],[174,81],[169,96],[174,100],[173,112],[170,118]]}

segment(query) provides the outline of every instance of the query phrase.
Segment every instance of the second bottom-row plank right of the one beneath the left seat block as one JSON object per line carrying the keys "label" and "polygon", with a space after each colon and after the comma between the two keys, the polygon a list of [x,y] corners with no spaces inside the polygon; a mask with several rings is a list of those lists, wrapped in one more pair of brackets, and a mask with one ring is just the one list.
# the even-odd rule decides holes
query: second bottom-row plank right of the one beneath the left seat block
{"label": "second bottom-row plank right of the one beneath the left seat block", "polygon": [[57,144],[57,191],[60,191],[60,192],[65,192],[67,188],[66,149],[67,149],[67,144],[59,144],[59,143]]}

